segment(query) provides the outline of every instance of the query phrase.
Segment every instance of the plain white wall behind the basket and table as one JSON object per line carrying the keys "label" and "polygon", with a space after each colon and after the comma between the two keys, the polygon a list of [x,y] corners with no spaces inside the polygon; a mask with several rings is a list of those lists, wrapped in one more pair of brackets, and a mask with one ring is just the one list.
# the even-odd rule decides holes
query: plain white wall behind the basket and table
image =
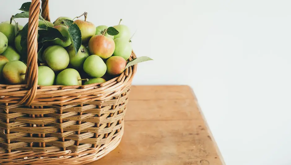
{"label": "plain white wall behind the basket and table", "polygon": [[[2,0],[1,20],[22,2]],[[5,3],[3,3],[5,2]],[[227,165],[291,164],[289,0],[50,0],[50,16],[123,19],[141,63],[133,84],[190,85]],[[24,25],[24,21],[20,21]]]}

